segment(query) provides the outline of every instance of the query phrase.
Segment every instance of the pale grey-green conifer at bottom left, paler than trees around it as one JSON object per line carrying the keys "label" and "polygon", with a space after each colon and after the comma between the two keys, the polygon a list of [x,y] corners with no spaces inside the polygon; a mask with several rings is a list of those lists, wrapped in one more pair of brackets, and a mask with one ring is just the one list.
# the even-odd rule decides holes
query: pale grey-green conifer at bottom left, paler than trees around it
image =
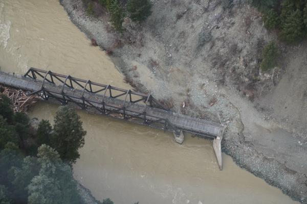
{"label": "pale grey-green conifer at bottom left, paler than trees around it", "polygon": [[28,186],[28,203],[82,203],[71,167],[62,163],[58,152],[46,144],[37,151],[41,168]]}

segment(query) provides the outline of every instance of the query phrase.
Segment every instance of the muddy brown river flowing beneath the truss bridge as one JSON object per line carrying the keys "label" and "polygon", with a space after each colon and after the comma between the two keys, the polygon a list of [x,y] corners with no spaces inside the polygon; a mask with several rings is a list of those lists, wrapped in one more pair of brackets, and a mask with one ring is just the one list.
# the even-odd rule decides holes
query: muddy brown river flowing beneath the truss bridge
{"label": "muddy brown river flowing beneath the truss bridge", "polygon": [[[0,0],[0,66],[71,74],[129,89],[108,56],[70,21],[57,0]],[[57,107],[38,103],[30,117],[49,119]],[[87,131],[75,178],[93,195],[115,203],[296,203],[223,155],[218,170],[212,142],[164,133],[79,112]]]}

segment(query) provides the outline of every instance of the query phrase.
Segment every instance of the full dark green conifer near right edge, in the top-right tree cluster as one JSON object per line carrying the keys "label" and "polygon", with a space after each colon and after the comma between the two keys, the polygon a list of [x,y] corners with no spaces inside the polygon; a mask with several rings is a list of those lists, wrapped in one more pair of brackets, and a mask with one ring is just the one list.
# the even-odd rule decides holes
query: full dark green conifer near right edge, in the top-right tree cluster
{"label": "full dark green conifer near right edge, in the top-right tree cluster", "polygon": [[303,19],[299,9],[291,13],[282,23],[280,37],[286,42],[295,42],[303,37]]}

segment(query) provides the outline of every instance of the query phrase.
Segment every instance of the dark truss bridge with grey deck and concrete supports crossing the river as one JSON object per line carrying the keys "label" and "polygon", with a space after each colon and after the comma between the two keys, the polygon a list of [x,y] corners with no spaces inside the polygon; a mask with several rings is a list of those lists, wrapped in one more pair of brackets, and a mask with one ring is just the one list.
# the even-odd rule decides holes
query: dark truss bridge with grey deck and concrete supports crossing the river
{"label": "dark truss bridge with grey deck and concrete supports crossing the river", "polygon": [[183,132],[213,139],[217,163],[222,170],[221,141],[226,124],[211,122],[168,111],[151,94],[125,90],[52,71],[30,68],[23,76],[0,71],[2,86],[21,89],[41,100],[75,109],[107,115],[170,131],[178,143]]}

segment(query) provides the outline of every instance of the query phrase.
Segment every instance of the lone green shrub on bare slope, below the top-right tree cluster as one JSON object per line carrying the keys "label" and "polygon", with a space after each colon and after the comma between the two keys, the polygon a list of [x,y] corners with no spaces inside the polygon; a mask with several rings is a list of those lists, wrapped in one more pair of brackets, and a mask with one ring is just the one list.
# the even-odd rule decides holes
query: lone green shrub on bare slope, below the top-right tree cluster
{"label": "lone green shrub on bare slope, below the top-right tree cluster", "polygon": [[277,64],[278,50],[275,42],[268,43],[262,50],[262,62],[260,68],[262,71],[272,69]]}

